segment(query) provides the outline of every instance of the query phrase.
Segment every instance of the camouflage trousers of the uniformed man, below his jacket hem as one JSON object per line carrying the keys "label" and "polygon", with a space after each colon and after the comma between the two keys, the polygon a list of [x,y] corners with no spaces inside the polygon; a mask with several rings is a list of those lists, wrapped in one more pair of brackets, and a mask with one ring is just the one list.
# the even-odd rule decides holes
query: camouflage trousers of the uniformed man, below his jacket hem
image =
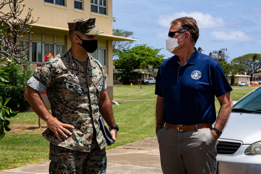
{"label": "camouflage trousers of the uniformed man, below his jacket hem", "polygon": [[74,151],[50,143],[50,174],[101,174],[106,173],[105,148],[100,149],[97,141],[92,142],[90,152]]}

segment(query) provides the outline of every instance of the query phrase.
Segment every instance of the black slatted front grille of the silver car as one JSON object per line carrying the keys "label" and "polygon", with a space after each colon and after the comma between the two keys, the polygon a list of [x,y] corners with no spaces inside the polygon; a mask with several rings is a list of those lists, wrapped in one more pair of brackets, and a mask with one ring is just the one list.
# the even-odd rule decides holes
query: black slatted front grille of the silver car
{"label": "black slatted front grille of the silver car", "polygon": [[241,143],[218,141],[217,154],[232,155],[240,146]]}

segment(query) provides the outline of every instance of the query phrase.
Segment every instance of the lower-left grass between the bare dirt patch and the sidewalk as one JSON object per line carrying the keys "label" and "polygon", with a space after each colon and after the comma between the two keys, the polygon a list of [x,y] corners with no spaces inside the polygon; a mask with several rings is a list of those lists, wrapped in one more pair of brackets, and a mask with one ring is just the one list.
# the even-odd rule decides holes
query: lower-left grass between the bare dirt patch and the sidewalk
{"label": "lower-left grass between the bare dirt patch and the sidewalk", "polygon": [[49,142],[41,130],[8,132],[0,142],[0,171],[48,160]]}

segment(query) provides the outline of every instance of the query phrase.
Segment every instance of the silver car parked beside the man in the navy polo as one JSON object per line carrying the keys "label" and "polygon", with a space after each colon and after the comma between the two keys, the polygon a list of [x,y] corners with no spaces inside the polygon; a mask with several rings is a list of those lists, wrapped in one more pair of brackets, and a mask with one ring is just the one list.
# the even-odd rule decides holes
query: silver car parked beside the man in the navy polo
{"label": "silver car parked beside the man in the navy polo", "polygon": [[217,173],[261,174],[261,87],[236,102],[217,144]]}

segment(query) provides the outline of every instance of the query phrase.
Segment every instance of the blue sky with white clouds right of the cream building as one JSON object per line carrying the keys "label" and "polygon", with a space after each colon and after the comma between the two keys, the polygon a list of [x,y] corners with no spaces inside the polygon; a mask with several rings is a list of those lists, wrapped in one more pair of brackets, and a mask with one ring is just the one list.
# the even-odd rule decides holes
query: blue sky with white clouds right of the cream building
{"label": "blue sky with white clouds right of the cream building", "polygon": [[163,48],[165,58],[173,56],[166,50],[170,22],[183,16],[193,17],[199,26],[195,45],[209,55],[227,48],[233,58],[248,53],[261,53],[260,0],[113,0],[114,29],[132,31],[139,39],[135,44]]}

